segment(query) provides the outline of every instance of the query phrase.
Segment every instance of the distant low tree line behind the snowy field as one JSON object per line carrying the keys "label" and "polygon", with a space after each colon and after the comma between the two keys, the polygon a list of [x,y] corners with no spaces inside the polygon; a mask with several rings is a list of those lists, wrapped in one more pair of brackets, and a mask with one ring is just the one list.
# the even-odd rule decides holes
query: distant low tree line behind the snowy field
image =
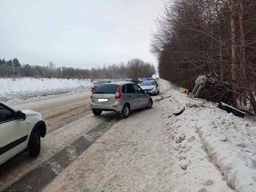
{"label": "distant low tree line behind the snowy field", "polygon": [[0,59],[0,77],[35,77],[35,78],[73,78],[73,79],[124,79],[132,77],[151,77],[155,67],[142,59],[133,58],[125,64],[104,65],[104,67],[81,69],[73,67],[56,67],[49,62],[47,66],[22,64],[17,58],[6,61]]}

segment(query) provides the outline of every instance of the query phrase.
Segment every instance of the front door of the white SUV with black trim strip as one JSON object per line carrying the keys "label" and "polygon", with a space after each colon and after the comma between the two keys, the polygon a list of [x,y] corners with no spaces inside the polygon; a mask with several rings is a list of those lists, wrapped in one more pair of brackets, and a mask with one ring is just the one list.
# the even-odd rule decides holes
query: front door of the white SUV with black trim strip
{"label": "front door of the white SUV with black trim strip", "polygon": [[27,137],[27,122],[16,119],[15,111],[0,104],[0,164],[24,150]]}

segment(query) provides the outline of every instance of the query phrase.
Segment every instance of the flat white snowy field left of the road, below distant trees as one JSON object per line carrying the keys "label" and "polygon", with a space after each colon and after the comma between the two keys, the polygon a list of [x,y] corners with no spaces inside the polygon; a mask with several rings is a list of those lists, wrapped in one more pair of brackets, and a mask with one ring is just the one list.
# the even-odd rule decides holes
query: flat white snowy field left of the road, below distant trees
{"label": "flat white snowy field left of the road, below distant trees", "polygon": [[1,78],[0,100],[9,104],[89,91],[90,79]]}

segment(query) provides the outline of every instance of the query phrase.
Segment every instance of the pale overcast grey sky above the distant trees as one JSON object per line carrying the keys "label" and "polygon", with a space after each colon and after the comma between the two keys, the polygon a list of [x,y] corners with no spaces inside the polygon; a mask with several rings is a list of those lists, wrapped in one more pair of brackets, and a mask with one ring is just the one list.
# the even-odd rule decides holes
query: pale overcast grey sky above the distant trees
{"label": "pale overcast grey sky above the distant trees", "polygon": [[1,0],[0,58],[91,68],[149,53],[163,0]]}

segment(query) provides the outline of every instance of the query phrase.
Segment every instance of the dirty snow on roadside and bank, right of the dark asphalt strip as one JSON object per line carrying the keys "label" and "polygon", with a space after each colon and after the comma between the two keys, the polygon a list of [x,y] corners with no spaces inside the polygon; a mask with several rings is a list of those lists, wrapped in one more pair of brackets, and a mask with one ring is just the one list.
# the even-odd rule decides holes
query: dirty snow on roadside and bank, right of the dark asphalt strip
{"label": "dirty snow on roadside and bank, right of the dark asphalt strip", "polygon": [[44,191],[256,191],[256,123],[160,88],[166,98],[114,124]]}

